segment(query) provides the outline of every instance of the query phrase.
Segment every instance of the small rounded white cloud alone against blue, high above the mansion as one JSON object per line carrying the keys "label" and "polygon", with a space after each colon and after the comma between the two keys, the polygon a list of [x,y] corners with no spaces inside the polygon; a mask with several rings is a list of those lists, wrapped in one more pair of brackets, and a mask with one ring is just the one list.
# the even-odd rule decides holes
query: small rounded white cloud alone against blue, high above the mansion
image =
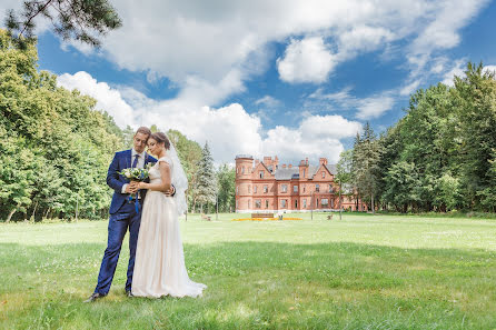
{"label": "small rounded white cloud alone against blue, high above the mansion", "polygon": [[334,56],[320,37],[291,40],[285,57],[277,60],[280,79],[291,83],[324,82],[334,66]]}

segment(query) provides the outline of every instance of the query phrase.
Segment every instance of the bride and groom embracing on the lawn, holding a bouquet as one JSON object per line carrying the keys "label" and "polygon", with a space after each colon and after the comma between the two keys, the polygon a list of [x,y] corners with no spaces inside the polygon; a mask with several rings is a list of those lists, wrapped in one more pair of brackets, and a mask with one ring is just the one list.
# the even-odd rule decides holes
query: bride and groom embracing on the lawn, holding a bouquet
{"label": "bride and groom embracing on the lawn, holding a bouquet", "polygon": [[[145,149],[157,158],[148,154]],[[129,182],[127,168],[146,168],[149,182]],[[128,297],[198,297],[205,284],[188,277],[185,266],[179,216],[187,210],[185,171],[173,144],[161,132],[139,128],[133,148],[117,152],[107,173],[107,184],[115,190],[110,203],[107,249],[98,274],[92,302],[107,296],[116,271],[122,240],[129,229]],[[133,194],[138,203],[129,202]]]}

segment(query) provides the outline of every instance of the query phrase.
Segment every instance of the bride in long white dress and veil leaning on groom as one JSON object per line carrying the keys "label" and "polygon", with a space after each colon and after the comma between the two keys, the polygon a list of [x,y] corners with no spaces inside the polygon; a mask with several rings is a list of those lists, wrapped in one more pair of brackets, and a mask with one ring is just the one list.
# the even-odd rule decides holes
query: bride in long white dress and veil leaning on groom
{"label": "bride in long white dress and veil leaning on groom", "polygon": [[[139,183],[139,189],[148,189],[148,192],[136,248],[131,292],[137,297],[155,298],[201,296],[207,287],[189,279],[179,232],[179,216],[187,210],[185,171],[166,134],[151,134],[148,149],[158,161],[149,171],[150,183]],[[169,190],[171,183],[176,194],[167,197],[162,191]]]}

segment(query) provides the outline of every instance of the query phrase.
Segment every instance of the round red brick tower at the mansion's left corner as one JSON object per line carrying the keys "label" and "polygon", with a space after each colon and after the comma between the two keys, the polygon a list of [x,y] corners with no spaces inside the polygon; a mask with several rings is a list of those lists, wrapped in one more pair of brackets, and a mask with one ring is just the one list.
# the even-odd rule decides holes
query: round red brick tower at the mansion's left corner
{"label": "round red brick tower at the mansion's left corner", "polygon": [[249,211],[254,209],[251,172],[254,158],[249,154],[236,156],[236,210]]}

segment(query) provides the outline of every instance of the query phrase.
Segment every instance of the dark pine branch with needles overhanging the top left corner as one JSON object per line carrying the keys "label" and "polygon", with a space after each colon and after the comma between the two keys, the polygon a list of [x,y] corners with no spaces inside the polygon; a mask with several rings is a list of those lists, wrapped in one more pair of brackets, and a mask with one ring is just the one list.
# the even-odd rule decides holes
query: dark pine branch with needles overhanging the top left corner
{"label": "dark pine branch with needles overhanging the top left corner", "polygon": [[63,40],[100,46],[100,36],[121,27],[122,21],[108,0],[27,0],[20,12],[10,10],[6,18],[14,43],[26,48],[34,39],[36,20],[49,19]]}

